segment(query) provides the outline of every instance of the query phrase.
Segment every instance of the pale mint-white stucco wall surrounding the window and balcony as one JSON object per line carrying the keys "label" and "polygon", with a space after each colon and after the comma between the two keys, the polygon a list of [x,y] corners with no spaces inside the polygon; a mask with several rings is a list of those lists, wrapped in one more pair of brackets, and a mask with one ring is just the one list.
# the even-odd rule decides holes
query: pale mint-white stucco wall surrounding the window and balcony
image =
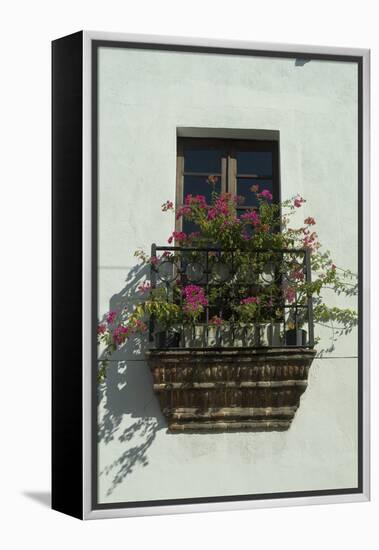
{"label": "pale mint-white stucco wall surrounding the window and balcony", "polygon": [[[102,48],[99,54],[99,318],[133,302],[138,247],[166,243],[180,127],[280,132],[282,197],[300,193],[324,249],[357,271],[354,64]],[[220,136],[221,137],[221,136]],[[354,307],[328,296],[328,304]],[[319,348],[330,332],[316,327]],[[99,502],[353,487],[357,338],[317,359],[288,432],[166,433],[137,344],[113,357],[99,406]],[[227,483],[225,483],[227,480]]]}

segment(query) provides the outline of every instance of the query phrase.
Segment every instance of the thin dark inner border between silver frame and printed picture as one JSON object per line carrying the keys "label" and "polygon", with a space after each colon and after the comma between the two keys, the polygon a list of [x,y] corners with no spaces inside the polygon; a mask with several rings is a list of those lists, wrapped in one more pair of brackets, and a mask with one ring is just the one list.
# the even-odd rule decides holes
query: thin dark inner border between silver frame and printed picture
{"label": "thin dark inner border between silver frame and printed picture", "polygon": [[[268,499],[321,497],[332,495],[359,494],[363,492],[363,318],[362,318],[362,279],[363,279],[363,57],[338,54],[316,54],[304,52],[254,50],[245,48],[186,46],[176,44],[159,44],[145,42],[123,42],[116,40],[91,41],[91,147],[92,147],[92,373],[91,373],[91,501],[92,510],[109,510],[117,508],[144,508],[154,506],[176,506],[181,504],[202,504],[214,502],[256,501]],[[99,48],[125,48],[136,50],[158,50],[187,53],[206,53],[231,56],[292,58],[306,60],[338,61],[356,63],[358,69],[358,486],[343,489],[323,489],[317,491],[292,491],[283,493],[260,493],[252,495],[226,495],[214,497],[196,497],[180,499],[147,500],[136,502],[98,503],[98,458],[97,458],[97,310],[98,310],[98,51]],[[185,512],[185,510],[183,510]]]}

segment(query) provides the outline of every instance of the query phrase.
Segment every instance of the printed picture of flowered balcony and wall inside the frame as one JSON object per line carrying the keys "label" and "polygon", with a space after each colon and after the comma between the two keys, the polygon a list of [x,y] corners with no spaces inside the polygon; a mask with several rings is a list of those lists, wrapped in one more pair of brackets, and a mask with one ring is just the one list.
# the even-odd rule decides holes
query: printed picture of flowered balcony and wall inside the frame
{"label": "printed picture of flowered balcony and wall inside the frame", "polygon": [[94,506],[358,491],[358,63],[93,56]]}

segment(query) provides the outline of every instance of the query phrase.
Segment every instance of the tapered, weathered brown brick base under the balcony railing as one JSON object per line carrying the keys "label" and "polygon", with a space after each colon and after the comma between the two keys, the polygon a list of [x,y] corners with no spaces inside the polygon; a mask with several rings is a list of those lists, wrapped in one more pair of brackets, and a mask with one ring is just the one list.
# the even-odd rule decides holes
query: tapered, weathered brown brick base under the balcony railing
{"label": "tapered, weathered brown brick base under the balcony railing", "polygon": [[289,347],[146,352],[173,433],[288,430],[315,354]]}

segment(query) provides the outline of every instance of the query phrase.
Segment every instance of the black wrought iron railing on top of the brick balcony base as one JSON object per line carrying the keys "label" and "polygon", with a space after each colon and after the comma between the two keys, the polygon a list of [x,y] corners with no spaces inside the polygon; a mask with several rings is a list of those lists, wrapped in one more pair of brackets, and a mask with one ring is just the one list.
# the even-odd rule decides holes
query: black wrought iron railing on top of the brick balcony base
{"label": "black wrought iron railing on top of the brick balcony base", "polygon": [[[153,244],[151,258],[151,288],[164,289],[169,302],[183,307],[183,293],[178,287],[180,290],[188,284],[202,287],[206,296],[218,289],[219,297],[204,306],[195,323],[176,324],[178,347],[313,348],[312,295],[309,290],[304,292],[307,285],[299,285],[311,283],[308,249],[262,248],[247,252]],[[267,289],[272,303],[262,305],[259,319],[236,320],[235,306],[247,296],[261,296]],[[215,316],[222,319],[222,324],[214,324]],[[150,341],[160,329],[152,316]],[[156,347],[164,346],[156,341]]]}

